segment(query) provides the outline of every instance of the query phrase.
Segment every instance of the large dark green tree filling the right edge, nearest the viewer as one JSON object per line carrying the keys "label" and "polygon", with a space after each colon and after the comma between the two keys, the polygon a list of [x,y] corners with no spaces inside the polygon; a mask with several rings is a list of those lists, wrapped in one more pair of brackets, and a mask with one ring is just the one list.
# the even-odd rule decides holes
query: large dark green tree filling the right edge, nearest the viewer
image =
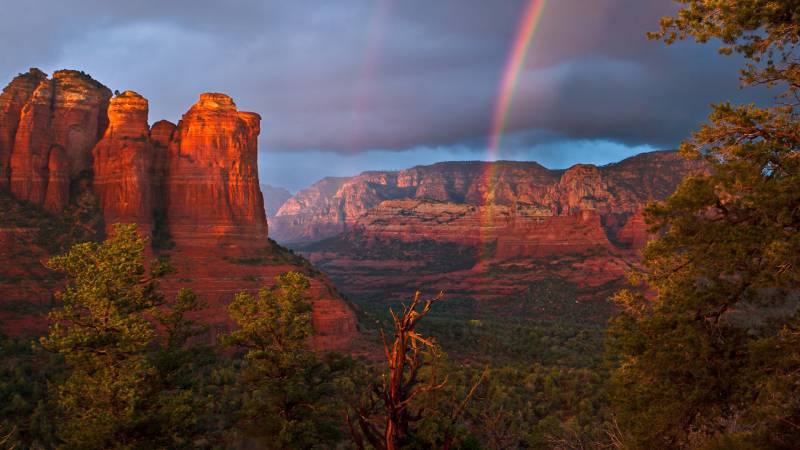
{"label": "large dark green tree filling the right edge, nearest the viewer", "polygon": [[631,447],[792,448],[800,409],[775,399],[797,398],[800,370],[800,4],[680,3],[652,37],[718,39],[749,61],[744,83],[785,90],[772,108],[714,106],[681,146],[705,171],[647,209],[662,235],[632,277],[641,289],[616,297],[615,410]]}

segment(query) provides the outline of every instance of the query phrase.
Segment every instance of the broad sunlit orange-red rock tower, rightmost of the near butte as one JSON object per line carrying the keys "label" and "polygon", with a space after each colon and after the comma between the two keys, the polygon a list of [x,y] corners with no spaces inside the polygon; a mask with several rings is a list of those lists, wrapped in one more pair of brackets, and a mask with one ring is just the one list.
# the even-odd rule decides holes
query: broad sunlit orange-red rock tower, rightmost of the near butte
{"label": "broad sunlit orange-red rock tower, rightmost of the near butte", "polygon": [[266,240],[258,185],[260,117],[224,94],[202,94],[173,134],[167,180],[169,230],[176,244],[249,246]]}

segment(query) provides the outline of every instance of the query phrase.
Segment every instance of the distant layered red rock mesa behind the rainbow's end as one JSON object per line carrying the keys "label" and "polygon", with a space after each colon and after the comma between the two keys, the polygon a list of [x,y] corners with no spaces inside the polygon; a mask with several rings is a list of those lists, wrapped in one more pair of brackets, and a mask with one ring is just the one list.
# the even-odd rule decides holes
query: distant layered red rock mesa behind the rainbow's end
{"label": "distant layered red rock mesa behind the rainbow's end", "polygon": [[452,162],[325,179],[270,219],[348,295],[519,296],[565,280],[602,298],[649,236],[642,210],[698,166],[654,152],[603,167]]}

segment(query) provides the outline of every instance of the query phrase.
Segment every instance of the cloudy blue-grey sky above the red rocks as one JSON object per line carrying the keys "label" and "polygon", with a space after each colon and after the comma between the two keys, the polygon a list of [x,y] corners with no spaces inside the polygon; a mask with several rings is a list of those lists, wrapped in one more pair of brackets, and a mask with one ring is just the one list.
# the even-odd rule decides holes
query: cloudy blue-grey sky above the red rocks
{"label": "cloudy blue-grey sky above the red rocks", "polygon": [[713,44],[647,40],[670,0],[547,0],[490,151],[531,0],[1,1],[0,80],[83,70],[145,96],[151,123],[227,93],[262,116],[261,181],[292,191],[445,160],[606,164],[767,95]]}

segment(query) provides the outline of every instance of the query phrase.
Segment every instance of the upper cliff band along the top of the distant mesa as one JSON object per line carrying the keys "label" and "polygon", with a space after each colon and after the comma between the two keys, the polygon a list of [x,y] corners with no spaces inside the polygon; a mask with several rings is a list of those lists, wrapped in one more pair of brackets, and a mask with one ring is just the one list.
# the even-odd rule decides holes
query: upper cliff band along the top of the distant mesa
{"label": "upper cliff band along the top of the distant mesa", "polygon": [[[654,152],[608,166],[567,170],[530,162],[448,162],[326,178],[284,203],[270,220],[271,235],[279,242],[319,241],[351,229],[383,201],[416,199],[511,207],[522,216],[529,210],[567,217],[596,211],[613,239],[629,217],[648,201],[666,198],[693,168],[694,163],[675,152]],[[503,214],[498,220],[504,220]]]}

